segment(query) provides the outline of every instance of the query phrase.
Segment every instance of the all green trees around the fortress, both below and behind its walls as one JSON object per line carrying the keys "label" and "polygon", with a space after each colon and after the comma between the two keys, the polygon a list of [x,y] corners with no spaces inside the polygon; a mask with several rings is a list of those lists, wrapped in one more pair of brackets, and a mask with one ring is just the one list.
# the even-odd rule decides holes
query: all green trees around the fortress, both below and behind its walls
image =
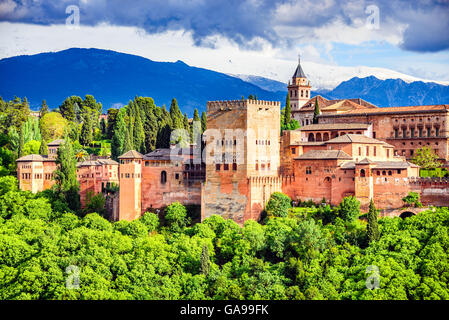
{"label": "all green trees around the fortress, both below and behind its walls", "polygon": [[[260,221],[243,226],[220,212],[201,223],[173,203],[158,214],[110,222],[104,198],[80,208],[76,163],[170,143],[190,130],[174,99],[169,111],[136,97],[99,121],[101,103],[69,97],[40,117],[26,99],[0,99],[0,299],[449,299],[449,209],[381,218],[372,203],[337,207],[275,193]],[[205,130],[206,116],[195,112]],[[289,109],[283,129],[298,126]],[[190,131],[191,132],[191,131]],[[58,151],[52,189],[18,190],[17,157]],[[404,205],[419,205],[419,198]]]}

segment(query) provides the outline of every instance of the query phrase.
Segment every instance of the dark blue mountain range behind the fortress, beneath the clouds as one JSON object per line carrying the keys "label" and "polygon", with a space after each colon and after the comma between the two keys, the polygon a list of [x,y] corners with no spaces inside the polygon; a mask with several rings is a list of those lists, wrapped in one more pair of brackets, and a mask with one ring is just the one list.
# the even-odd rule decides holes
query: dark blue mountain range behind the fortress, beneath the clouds
{"label": "dark blue mountain range behind the fortress, beneath the clouds", "polygon": [[[313,85],[313,83],[312,83]],[[207,101],[238,100],[256,95],[285,103],[286,84],[251,75],[228,75],[188,66],[182,61],[156,62],[110,50],[72,48],[0,60],[0,96],[27,97],[32,109],[43,99],[58,107],[71,95],[93,95],[104,110],[149,96],[167,107],[173,97],[189,116]],[[433,82],[354,77],[332,90],[312,92],[328,99],[362,98],[380,107],[449,103],[449,86]]]}

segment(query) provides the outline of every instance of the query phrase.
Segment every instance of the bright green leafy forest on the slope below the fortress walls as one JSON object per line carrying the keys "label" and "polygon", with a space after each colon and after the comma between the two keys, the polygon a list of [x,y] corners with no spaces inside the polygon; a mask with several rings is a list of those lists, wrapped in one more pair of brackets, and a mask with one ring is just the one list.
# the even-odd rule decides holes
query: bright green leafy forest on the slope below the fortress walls
{"label": "bright green leafy forest on the slope below the fortress walls", "polygon": [[111,223],[0,179],[0,299],[449,299],[447,208],[379,219],[377,235],[355,199],[272,197],[243,227],[191,225],[179,203]]}

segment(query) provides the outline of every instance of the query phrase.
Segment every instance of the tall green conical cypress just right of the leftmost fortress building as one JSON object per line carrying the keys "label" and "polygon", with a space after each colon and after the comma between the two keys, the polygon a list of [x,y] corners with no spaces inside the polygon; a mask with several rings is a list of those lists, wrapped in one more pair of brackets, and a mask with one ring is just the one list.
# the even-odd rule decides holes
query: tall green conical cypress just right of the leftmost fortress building
{"label": "tall green conical cypress just right of the leftmost fortress building", "polygon": [[81,208],[79,197],[79,182],[76,175],[76,157],[72,141],[66,135],[64,143],[58,149],[55,171],[56,192],[67,202],[70,209],[79,212]]}

